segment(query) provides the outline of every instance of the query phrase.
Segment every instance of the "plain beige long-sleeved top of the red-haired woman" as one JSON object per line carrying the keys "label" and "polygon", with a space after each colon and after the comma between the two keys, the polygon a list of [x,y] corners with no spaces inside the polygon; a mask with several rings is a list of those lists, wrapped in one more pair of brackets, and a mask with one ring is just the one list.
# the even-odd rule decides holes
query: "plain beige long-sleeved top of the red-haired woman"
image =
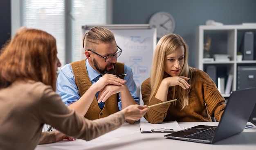
{"label": "plain beige long-sleeved top of the red-haired woman", "polygon": [[[50,86],[18,81],[0,89],[0,150],[34,150],[43,124],[79,139],[91,140],[119,128],[125,122],[121,111],[100,120],[88,120],[68,109]],[[43,133],[41,142],[55,142]]]}

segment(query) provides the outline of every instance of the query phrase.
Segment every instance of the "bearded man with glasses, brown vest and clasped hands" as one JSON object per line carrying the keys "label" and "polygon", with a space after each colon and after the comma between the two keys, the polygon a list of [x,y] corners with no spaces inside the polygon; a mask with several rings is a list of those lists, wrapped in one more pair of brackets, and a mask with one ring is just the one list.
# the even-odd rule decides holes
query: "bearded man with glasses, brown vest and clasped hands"
{"label": "bearded man with glasses, brown vest and clasped hands", "polygon": [[[122,50],[117,46],[112,31],[103,27],[91,28],[84,35],[83,48],[86,59],[64,65],[58,74],[56,93],[66,106],[95,120],[131,104],[139,104],[132,69],[117,62]],[[122,74],[125,75],[117,77]],[[89,100],[83,94],[92,90],[89,89],[92,84],[103,84],[105,87],[101,91],[94,91],[95,98]]]}

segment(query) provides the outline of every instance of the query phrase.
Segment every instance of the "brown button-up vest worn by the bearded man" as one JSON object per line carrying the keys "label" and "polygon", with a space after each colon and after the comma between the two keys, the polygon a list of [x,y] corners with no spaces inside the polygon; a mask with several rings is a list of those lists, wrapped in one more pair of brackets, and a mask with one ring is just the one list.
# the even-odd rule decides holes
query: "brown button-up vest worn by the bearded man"
{"label": "brown button-up vest worn by the bearded man", "polygon": [[[83,94],[92,85],[90,78],[88,76],[88,73],[87,73],[86,66],[85,66],[85,60],[86,59],[84,59],[82,61],[76,61],[76,62],[70,63],[70,65],[72,66],[72,70],[74,72],[75,83],[79,90],[80,97],[82,97]],[[116,68],[117,68],[117,72],[115,75],[124,74],[124,63],[117,62]],[[122,76],[120,78],[124,78],[124,76]],[[111,115],[112,113],[116,113],[117,111],[119,111],[118,96],[119,96],[119,93],[110,96],[106,100],[104,108],[102,110],[99,108],[99,105],[98,105],[98,102],[97,102],[97,99],[95,96],[92,101],[92,104],[90,105],[90,107],[84,117],[89,120],[95,120],[95,119],[107,117],[108,115]]]}

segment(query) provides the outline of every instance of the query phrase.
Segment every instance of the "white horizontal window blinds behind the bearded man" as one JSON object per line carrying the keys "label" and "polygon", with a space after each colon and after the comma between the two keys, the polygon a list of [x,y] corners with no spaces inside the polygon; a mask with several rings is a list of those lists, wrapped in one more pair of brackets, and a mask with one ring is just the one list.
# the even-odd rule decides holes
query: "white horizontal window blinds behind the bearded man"
{"label": "white horizontal window blinds behind the bearded man", "polygon": [[[22,0],[22,26],[45,30],[56,38],[58,58],[65,65],[66,51],[72,51],[72,61],[79,61],[81,51],[81,26],[106,24],[106,0],[71,0],[71,12],[65,12],[65,0]],[[65,19],[71,17],[72,36],[65,38]],[[70,42],[71,49],[65,48]]]}

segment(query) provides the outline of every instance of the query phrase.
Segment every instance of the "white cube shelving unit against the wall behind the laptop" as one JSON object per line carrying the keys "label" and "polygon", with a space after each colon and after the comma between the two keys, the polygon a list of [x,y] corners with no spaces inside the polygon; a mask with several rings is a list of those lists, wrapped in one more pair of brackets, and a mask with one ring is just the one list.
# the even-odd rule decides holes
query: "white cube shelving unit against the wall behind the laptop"
{"label": "white cube shelving unit against the wall behind the laptop", "polygon": [[[219,74],[226,74],[226,76],[233,74],[231,91],[235,91],[237,89],[237,67],[239,65],[256,65],[255,60],[236,61],[236,53],[239,51],[240,42],[242,41],[243,34],[247,31],[254,33],[255,45],[256,24],[199,26],[195,34],[195,67],[206,71],[207,66],[216,65],[217,78]],[[204,61],[204,43],[206,43],[208,35],[211,37],[210,56],[213,57],[213,54],[229,54],[231,56],[230,61]],[[222,96],[229,97],[229,94],[222,94]]]}

